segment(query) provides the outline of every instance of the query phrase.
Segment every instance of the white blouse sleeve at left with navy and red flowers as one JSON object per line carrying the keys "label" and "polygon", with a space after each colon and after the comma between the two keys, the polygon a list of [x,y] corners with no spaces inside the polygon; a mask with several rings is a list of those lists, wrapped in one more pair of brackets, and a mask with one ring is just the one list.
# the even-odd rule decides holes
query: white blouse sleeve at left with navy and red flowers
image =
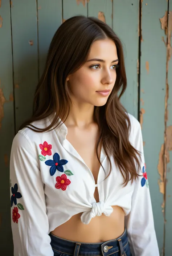
{"label": "white blouse sleeve at left with navy and red flowers", "polygon": [[10,179],[14,256],[53,256],[44,184],[36,151],[24,131],[13,140]]}

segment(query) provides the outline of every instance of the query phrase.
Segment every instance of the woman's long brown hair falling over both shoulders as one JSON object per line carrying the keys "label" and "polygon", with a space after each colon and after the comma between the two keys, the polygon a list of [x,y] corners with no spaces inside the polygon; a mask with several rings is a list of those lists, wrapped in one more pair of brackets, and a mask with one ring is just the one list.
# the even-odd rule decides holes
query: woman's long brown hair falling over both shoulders
{"label": "woman's long brown hair falling over both shoulders", "polygon": [[[74,16],[57,29],[34,95],[32,118],[24,122],[20,129],[29,127],[41,133],[57,128],[60,119],[65,122],[71,106],[67,76],[76,72],[86,62],[93,42],[105,38],[110,38],[116,45],[119,68],[116,69],[115,85],[106,104],[94,107],[94,121],[99,126],[97,157],[101,164],[98,156],[98,145],[101,142],[109,161],[109,155],[113,155],[124,178],[123,185],[126,186],[128,181],[133,182],[138,177],[140,154],[129,142],[130,119],[120,103],[127,86],[123,47],[114,31],[97,18]],[[52,122],[45,129],[32,124],[52,114]],[[111,170],[110,161],[110,172]]]}

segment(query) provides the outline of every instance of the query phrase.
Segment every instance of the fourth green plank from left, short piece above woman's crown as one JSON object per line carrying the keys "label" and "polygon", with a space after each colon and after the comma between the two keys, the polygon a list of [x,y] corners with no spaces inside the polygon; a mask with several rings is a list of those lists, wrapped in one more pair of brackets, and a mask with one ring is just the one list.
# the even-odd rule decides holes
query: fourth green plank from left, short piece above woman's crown
{"label": "fourth green plank from left, short piece above woman's crown", "polygon": [[75,15],[87,16],[86,0],[63,0],[63,19],[64,21]]}

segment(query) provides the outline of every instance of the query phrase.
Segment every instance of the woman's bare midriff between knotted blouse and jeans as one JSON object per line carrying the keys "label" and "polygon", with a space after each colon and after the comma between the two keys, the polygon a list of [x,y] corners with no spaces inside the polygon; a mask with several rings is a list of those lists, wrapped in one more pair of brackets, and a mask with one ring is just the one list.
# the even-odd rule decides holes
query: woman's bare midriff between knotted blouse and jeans
{"label": "woman's bare midriff between knotted blouse and jeans", "polygon": [[119,206],[112,208],[110,216],[95,216],[87,225],[81,222],[82,213],[76,214],[51,233],[80,243],[101,243],[116,239],[124,232],[124,211]]}

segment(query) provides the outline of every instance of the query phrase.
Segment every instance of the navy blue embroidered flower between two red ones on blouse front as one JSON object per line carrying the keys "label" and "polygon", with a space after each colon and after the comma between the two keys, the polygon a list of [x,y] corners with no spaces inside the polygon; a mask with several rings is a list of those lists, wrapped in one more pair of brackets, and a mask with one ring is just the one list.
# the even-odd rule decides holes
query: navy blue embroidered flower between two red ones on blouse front
{"label": "navy blue embroidered flower between two red ones on blouse front", "polygon": [[60,160],[60,155],[58,153],[55,153],[53,155],[53,160],[47,160],[45,161],[45,164],[50,167],[50,175],[53,176],[56,172],[56,170],[64,172],[63,165],[68,163],[67,160],[61,159]]}

